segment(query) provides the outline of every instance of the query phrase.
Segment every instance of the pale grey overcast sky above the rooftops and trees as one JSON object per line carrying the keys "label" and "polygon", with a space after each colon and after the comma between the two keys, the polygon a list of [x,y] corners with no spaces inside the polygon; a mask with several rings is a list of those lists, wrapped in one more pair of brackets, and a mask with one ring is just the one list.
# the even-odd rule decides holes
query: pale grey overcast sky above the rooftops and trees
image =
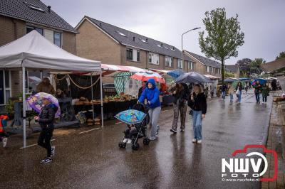
{"label": "pale grey overcast sky above the rooftops and trees", "polygon": [[[75,27],[83,16],[113,24],[120,28],[154,38],[181,49],[181,34],[195,27],[204,31],[205,11],[224,7],[227,17],[239,15],[244,45],[235,64],[242,58],[275,60],[285,51],[285,0],[42,0]],[[203,55],[198,32],[183,37],[183,49]]]}

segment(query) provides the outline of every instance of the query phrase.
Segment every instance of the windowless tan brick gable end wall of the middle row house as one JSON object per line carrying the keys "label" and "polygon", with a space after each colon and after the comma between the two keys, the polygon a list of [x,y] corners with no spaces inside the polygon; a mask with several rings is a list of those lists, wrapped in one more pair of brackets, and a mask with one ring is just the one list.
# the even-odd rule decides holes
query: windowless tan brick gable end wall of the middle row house
{"label": "windowless tan brick gable end wall of the middle row house", "polygon": [[77,55],[105,64],[120,65],[120,44],[89,21],[83,21],[76,36]]}

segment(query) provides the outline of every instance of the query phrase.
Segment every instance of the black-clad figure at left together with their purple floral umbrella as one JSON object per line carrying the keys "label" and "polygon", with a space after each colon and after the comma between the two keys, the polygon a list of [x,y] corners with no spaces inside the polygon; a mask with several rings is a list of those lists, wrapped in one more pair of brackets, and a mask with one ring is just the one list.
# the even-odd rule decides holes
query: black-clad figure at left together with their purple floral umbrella
{"label": "black-clad figure at left together with their purple floral umbrella", "polygon": [[38,145],[46,148],[47,156],[41,163],[51,163],[52,156],[55,153],[55,146],[51,146],[51,137],[53,136],[53,121],[55,117],[59,117],[61,110],[59,109],[58,100],[44,92],[39,92],[27,99],[28,104],[39,112],[35,120],[41,126],[41,134],[38,136]]}

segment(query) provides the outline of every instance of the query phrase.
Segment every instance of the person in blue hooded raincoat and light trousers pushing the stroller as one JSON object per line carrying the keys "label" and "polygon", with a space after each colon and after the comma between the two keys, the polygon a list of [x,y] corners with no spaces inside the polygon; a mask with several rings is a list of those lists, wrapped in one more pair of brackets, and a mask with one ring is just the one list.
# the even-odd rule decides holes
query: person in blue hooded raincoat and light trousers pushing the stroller
{"label": "person in blue hooded raincoat and light trousers pushing the stroller", "polygon": [[150,140],[156,139],[157,134],[157,121],[160,116],[160,90],[157,89],[155,85],[155,80],[150,79],[146,83],[145,90],[143,90],[142,95],[138,99],[138,102],[144,103],[147,99],[147,107],[150,108],[148,114],[150,115]]}

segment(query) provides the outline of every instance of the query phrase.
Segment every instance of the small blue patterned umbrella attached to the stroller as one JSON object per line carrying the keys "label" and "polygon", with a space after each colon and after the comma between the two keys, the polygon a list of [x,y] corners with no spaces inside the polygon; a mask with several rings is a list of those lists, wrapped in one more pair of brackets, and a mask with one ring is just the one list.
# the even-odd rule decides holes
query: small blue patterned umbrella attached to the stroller
{"label": "small blue patterned umbrella attached to the stroller", "polygon": [[126,124],[139,124],[147,114],[140,112],[136,109],[128,109],[115,115],[115,118]]}

